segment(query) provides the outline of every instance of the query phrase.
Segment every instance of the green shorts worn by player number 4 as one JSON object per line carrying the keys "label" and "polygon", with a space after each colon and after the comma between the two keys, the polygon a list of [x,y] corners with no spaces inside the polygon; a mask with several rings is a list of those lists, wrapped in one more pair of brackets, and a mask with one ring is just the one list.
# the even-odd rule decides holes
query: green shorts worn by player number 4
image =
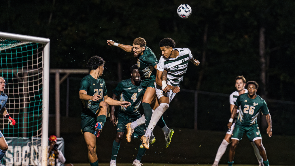
{"label": "green shorts worn by player number 4", "polygon": [[[126,124],[130,123],[130,122],[134,122],[136,121],[138,118],[140,118],[141,116],[137,116],[135,118],[127,118],[125,116],[118,116],[117,118],[117,133],[118,132],[124,132],[126,130]],[[133,133],[133,138],[137,138],[138,136],[143,136],[145,135],[145,131],[146,131],[146,126],[145,124],[141,125],[141,126],[137,126],[134,129],[134,133]]]}

